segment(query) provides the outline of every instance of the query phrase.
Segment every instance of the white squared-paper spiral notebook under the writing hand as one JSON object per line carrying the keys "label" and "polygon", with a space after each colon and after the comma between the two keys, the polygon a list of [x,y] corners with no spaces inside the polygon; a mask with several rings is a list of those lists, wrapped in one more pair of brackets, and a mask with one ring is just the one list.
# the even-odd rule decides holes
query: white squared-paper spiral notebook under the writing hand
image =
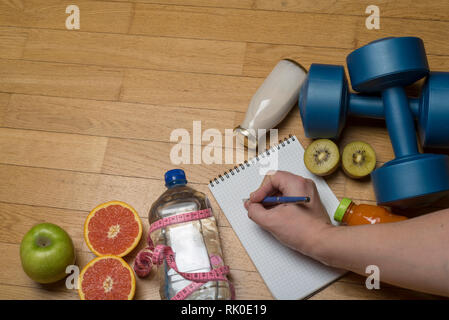
{"label": "white squared-paper spiral notebook under the writing hand", "polygon": [[[242,199],[256,190],[268,170],[283,170],[313,179],[329,216],[339,201],[327,183],[311,174],[303,162],[304,149],[295,136],[211,180],[209,189],[248,255],[276,299],[303,299],[341,277],[333,269],[279,243],[248,218]],[[331,216],[332,218],[332,216]],[[331,219],[333,221],[333,219]],[[238,297],[237,297],[238,298]]]}

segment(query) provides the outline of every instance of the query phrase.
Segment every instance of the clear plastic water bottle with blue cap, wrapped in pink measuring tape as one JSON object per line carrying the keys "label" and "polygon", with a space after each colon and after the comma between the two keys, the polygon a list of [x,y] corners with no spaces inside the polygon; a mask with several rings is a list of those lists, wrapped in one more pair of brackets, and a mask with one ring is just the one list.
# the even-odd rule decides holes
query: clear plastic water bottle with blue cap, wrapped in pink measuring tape
{"label": "clear plastic water bottle with blue cap, wrapped in pink measuring tape", "polygon": [[[183,170],[174,169],[165,173],[167,190],[153,203],[149,221],[187,212],[211,208],[209,200],[202,192],[186,185]],[[155,230],[150,235],[155,246],[170,246],[175,252],[176,264],[181,272],[208,272],[212,266],[211,256],[222,257],[220,238],[215,217],[174,224]],[[166,262],[158,268],[160,295],[162,299],[171,299],[180,290],[190,284]],[[231,298],[229,284],[225,281],[209,281],[194,291],[190,300],[226,300]]]}

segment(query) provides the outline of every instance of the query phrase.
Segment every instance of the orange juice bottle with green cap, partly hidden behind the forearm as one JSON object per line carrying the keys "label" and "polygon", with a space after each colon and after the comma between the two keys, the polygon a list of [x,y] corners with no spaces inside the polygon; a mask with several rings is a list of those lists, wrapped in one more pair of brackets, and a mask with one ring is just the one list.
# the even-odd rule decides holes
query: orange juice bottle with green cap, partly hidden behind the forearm
{"label": "orange juice bottle with green cap, partly hidden behind the forearm", "polygon": [[392,214],[384,207],[370,204],[355,204],[351,199],[343,198],[334,213],[334,220],[348,226],[398,222],[407,217]]}

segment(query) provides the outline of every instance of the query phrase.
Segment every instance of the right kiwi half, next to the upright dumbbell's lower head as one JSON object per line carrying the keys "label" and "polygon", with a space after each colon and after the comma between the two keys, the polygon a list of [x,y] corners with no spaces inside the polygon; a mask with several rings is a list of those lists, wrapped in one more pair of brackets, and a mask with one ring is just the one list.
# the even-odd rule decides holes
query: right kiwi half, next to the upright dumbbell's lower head
{"label": "right kiwi half, next to the upright dumbbell's lower head", "polygon": [[354,179],[366,177],[376,167],[376,153],[366,142],[348,143],[343,149],[341,158],[343,171]]}

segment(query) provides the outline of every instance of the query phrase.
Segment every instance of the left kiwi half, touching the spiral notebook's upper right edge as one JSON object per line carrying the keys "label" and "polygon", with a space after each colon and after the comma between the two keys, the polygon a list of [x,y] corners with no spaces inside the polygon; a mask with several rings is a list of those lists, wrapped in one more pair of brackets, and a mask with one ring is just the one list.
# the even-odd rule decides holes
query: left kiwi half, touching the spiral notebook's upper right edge
{"label": "left kiwi half, touching the spiral notebook's upper right edge", "polygon": [[327,176],[337,170],[340,164],[340,151],[329,139],[312,142],[304,152],[304,164],[307,169],[318,176]]}

